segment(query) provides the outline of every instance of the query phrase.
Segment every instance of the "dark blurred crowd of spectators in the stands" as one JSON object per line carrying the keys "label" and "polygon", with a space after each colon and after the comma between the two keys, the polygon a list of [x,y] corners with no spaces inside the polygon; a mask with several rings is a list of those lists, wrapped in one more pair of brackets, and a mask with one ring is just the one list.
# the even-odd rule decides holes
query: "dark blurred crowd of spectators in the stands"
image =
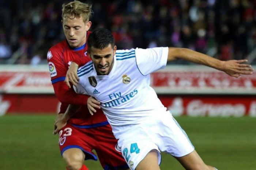
{"label": "dark blurred crowd of spectators in the stands", "polygon": [[[48,49],[65,38],[61,8],[68,2],[0,0],[0,62],[46,63]],[[93,4],[91,30],[111,30],[118,49],[174,46],[229,60],[256,47],[256,0],[83,2]]]}

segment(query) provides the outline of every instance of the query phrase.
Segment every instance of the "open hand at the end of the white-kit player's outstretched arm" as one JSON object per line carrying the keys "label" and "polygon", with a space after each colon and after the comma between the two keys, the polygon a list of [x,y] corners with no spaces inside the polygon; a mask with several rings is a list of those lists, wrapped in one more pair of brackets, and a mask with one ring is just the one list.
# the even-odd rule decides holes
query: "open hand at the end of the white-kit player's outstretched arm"
{"label": "open hand at the end of the white-kit player's outstretched arm", "polygon": [[228,75],[238,78],[242,74],[250,75],[253,72],[253,68],[250,64],[243,64],[248,62],[247,60],[228,60],[222,61],[223,71]]}

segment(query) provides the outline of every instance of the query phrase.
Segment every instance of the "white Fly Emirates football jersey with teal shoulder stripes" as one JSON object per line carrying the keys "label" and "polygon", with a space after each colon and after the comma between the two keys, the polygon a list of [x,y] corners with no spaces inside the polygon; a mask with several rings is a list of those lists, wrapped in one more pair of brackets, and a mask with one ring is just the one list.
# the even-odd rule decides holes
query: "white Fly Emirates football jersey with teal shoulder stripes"
{"label": "white Fly Emirates football jersey with teal shoulder stripes", "polygon": [[166,66],[167,55],[167,47],[117,50],[109,75],[97,75],[92,61],[80,67],[75,91],[93,96],[101,103],[118,139],[130,125],[166,111],[150,87],[149,74]]}

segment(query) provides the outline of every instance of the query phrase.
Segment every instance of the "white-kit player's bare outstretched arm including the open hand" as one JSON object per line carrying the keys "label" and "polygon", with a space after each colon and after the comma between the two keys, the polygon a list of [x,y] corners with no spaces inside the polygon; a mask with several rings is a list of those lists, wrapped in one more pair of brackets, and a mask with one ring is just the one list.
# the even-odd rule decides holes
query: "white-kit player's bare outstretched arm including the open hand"
{"label": "white-kit player's bare outstretched arm including the open hand", "polygon": [[228,60],[221,61],[216,58],[210,57],[206,54],[193,51],[186,48],[168,48],[167,61],[183,59],[197,64],[207,65],[209,67],[226,72],[233,77],[239,77],[241,74],[252,74],[253,68],[246,63],[247,60]]}

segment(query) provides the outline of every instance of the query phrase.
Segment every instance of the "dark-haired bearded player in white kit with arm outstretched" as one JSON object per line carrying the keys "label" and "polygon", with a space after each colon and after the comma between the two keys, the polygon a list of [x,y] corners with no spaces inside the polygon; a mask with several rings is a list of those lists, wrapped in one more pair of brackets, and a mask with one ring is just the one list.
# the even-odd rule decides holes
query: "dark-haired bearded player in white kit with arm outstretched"
{"label": "dark-haired bearded player in white kit with arm outstretched", "polygon": [[[149,85],[150,73],[164,68],[167,61],[182,58],[238,77],[252,74],[251,65],[242,64],[246,60],[220,61],[183,48],[117,50],[106,29],[95,29],[87,43],[92,61],[78,69],[79,83],[72,83],[77,93],[100,102],[132,170],[159,170],[160,152],[173,155],[187,170],[216,170],[203,162],[185,131],[162,105]],[[91,113],[97,104],[88,103]]]}

